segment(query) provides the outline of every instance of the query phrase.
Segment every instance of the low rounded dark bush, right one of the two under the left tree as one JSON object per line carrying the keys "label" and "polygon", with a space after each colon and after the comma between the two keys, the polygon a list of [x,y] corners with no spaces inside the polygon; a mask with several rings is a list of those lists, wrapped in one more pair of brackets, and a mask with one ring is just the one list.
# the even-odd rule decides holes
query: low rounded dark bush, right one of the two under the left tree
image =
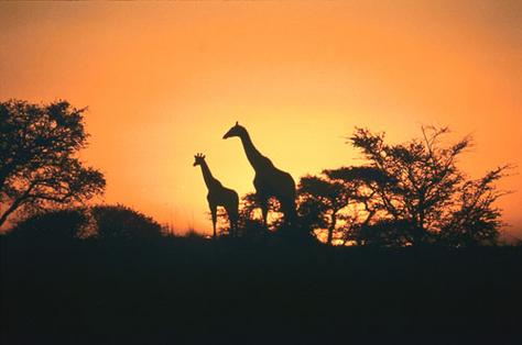
{"label": "low rounded dark bush, right one of the two under the left tree", "polygon": [[162,235],[156,221],[121,204],[93,207],[90,214],[100,238],[155,238]]}

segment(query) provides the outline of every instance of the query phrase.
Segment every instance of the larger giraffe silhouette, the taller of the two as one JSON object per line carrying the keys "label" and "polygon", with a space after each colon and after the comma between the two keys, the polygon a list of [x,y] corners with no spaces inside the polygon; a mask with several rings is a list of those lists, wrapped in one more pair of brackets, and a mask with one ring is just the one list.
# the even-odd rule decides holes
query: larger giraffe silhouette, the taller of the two
{"label": "larger giraffe silhouette, the taller of the two", "polygon": [[269,210],[269,199],[275,197],[281,203],[281,211],[284,213],[285,223],[295,220],[295,182],[289,172],[274,167],[272,162],[264,157],[253,145],[247,129],[236,122],[222,138],[239,136],[243,145],[247,158],[255,170],[253,186],[255,196],[261,205],[263,222],[267,225],[267,215]]}

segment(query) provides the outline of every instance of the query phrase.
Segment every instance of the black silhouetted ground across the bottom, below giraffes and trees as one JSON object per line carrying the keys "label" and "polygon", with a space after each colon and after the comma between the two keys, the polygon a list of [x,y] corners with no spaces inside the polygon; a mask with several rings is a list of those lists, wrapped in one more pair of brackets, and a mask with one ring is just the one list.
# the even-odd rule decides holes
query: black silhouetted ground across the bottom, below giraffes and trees
{"label": "black silhouetted ground across the bottom, below giraffes and trees", "polygon": [[521,247],[1,236],[2,344],[516,344]]}

